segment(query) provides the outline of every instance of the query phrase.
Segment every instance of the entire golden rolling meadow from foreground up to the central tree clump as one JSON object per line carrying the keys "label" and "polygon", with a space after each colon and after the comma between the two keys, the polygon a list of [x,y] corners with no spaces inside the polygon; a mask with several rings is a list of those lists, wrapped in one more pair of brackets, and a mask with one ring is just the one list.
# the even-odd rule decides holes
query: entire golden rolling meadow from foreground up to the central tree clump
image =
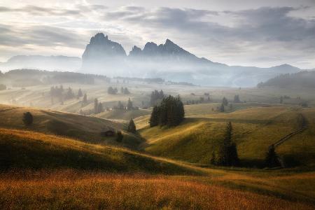
{"label": "entire golden rolling meadow from foreground up to the central tree clump", "polygon": [[[123,123],[0,105],[0,209],[314,209],[315,109],[246,103],[216,113],[214,106],[185,106],[188,118],[173,128],[149,128],[140,116],[140,136],[123,132],[127,142],[117,144],[90,138]],[[34,114],[31,127],[22,125],[25,111]],[[307,130],[276,148],[295,165],[257,169],[270,144],[300,127],[300,114]],[[53,120],[83,132],[57,133]],[[228,121],[242,168],[209,165]]]}

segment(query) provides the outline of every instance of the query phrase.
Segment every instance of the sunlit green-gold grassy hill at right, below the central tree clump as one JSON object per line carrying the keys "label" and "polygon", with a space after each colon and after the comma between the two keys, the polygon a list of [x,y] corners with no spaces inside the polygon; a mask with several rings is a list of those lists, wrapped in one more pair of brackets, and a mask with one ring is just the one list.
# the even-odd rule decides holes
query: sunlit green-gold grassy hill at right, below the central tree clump
{"label": "sunlit green-gold grassy hill at right, below the central tree clump", "polygon": [[[246,166],[262,167],[268,146],[300,127],[300,115],[307,118],[309,128],[276,148],[290,166],[314,166],[315,109],[300,109],[288,106],[259,107],[204,115],[204,118],[186,118],[173,128],[145,127],[147,119],[138,118],[141,136],[146,139],[142,148],[159,155],[188,162],[209,164],[212,151],[223,139],[225,125],[231,121],[233,139],[241,162]],[[299,153],[303,155],[300,156]],[[302,158],[303,157],[303,158]],[[295,162],[295,164],[291,164]]]}

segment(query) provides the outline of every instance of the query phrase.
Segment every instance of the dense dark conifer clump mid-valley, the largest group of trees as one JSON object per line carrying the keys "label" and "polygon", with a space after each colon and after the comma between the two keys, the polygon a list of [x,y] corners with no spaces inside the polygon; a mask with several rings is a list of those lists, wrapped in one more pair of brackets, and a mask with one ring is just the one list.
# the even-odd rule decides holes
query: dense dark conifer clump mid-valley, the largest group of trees
{"label": "dense dark conifer clump mid-valley, the largest group of trees", "polygon": [[150,126],[176,126],[183,121],[185,111],[180,97],[165,97],[160,105],[154,106],[150,118]]}

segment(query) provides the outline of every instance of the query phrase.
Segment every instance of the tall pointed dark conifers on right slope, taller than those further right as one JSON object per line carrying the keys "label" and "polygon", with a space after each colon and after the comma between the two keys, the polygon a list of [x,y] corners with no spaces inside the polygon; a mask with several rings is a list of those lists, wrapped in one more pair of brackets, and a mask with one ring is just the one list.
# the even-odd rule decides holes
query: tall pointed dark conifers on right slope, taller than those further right
{"label": "tall pointed dark conifers on right slope, taller than those further right", "polygon": [[211,164],[220,166],[239,165],[237,146],[232,141],[232,130],[232,123],[230,122],[226,125],[224,139],[219,146],[218,152],[212,153]]}

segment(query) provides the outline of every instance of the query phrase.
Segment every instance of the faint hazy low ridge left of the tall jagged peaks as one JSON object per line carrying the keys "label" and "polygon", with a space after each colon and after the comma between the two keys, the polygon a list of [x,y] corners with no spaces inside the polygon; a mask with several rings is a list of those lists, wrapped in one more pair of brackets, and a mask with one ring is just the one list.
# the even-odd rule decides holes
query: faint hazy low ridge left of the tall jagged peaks
{"label": "faint hazy low ridge left of the tall jagged peaks", "polygon": [[78,71],[81,67],[80,57],[17,55],[0,64],[3,71],[11,69],[45,69],[51,71]]}

